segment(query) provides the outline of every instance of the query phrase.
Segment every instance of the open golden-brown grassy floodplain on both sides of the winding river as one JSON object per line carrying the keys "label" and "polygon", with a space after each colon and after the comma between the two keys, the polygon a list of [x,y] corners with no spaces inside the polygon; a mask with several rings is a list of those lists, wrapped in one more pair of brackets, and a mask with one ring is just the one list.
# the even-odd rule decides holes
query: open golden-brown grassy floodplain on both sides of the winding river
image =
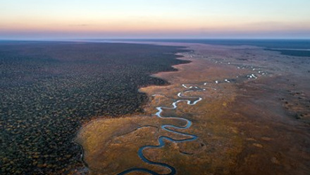
{"label": "open golden-brown grassy floodplain on both sides of the winding river", "polygon": [[78,133],[76,141],[85,150],[91,174],[118,174],[132,167],[167,174],[168,169],[143,162],[137,150],[143,145],[157,145],[161,135],[182,139],[182,135],[160,126],[184,123],[152,116],[156,107],[180,99],[178,92],[185,90],[182,84],[205,88],[187,93],[202,97],[202,101],[194,106],[180,103],[178,109],[163,111],[163,116],[189,119],[192,126],[186,133],[198,139],[187,143],[167,141],[161,149],[144,150],[145,157],[170,164],[177,174],[310,171],[309,58],[257,47],[173,45],[192,50],[180,54],[192,63],[175,66],[178,72],[154,75],[171,85],[140,89],[150,99],[143,116],[92,121]]}

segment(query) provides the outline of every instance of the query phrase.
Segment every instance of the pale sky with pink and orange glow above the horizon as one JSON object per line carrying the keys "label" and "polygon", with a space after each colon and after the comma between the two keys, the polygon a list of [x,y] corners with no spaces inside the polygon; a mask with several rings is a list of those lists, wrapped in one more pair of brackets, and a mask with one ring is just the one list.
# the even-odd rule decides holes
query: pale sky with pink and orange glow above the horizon
{"label": "pale sky with pink and orange glow above the horizon", "polygon": [[0,40],[310,39],[309,0],[0,0]]}

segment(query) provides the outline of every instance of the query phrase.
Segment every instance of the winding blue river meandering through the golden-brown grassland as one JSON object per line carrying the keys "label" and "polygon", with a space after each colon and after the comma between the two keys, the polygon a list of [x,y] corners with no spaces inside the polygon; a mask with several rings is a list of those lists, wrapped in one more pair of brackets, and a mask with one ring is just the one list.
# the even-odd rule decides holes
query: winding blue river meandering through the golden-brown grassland
{"label": "winding blue river meandering through the golden-brown grassland", "polygon": [[[255,68],[253,68],[253,71],[255,71]],[[236,83],[237,81],[256,79],[257,78],[256,75],[263,76],[265,74],[266,73],[264,73],[263,71],[258,71],[258,73],[256,73],[255,75],[254,75],[254,73],[252,73],[252,74],[249,74],[249,75],[246,75],[246,76],[237,76],[236,79],[215,80],[213,82],[202,83],[199,86],[206,87],[206,88],[209,88],[211,90],[217,90],[217,88],[213,87],[213,85],[216,85],[216,84],[219,84],[219,83]],[[143,162],[146,162],[147,164],[152,164],[152,165],[157,165],[157,166],[165,167],[166,169],[169,169],[170,172],[168,174],[158,174],[155,171],[151,171],[149,169],[135,168],[134,167],[134,168],[131,168],[131,169],[127,169],[127,170],[121,172],[118,175],[128,174],[128,173],[133,172],[133,171],[142,171],[142,172],[145,172],[145,173],[148,173],[148,174],[153,174],[153,175],[174,175],[174,174],[176,174],[175,167],[172,167],[169,164],[165,164],[165,163],[161,163],[161,162],[153,162],[153,161],[147,159],[147,157],[145,157],[143,155],[143,150],[148,149],[148,148],[161,148],[161,147],[165,146],[164,140],[168,140],[168,141],[171,141],[173,143],[185,143],[185,142],[190,142],[190,141],[193,141],[193,140],[197,140],[197,138],[198,138],[197,135],[193,135],[193,134],[190,134],[190,133],[183,133],[183,132],[180,132],[180,131],[173,130],[173,129],[183,129],[184,130],[184,129],[190,128],[190,126],[192,126],[192,121],[190,121],[188,119],[185,119],[185,118],[181,118],[181,117],[162,116],[161,115],[161,113],[163,112],[163,109],[177,109],[178,103],[180,103],[180,102],[187,102],[188,105],[194,105],[194,104],[197,104],[198,102],[200,102],[202,100],[202,97],[185,96],[184,94],[186,92],[204,91],[204,90],[206,90],[205,88],[194,86],[194,85],[187,86],[185,84],[182,84],[182,87],[184,87],[186,90],[178,93],[179,99],[171,104],[172,107],[156,107],[157,112],[154,115],[156,115],[157,117],[159,117],[161,119],[178,119],[178,120],[186,121],[185,126],[162,125],[161,128],[163,130],[171,132],[171,133],[176,133],[176,134],[179,134],[179,135],[186,136],[187,138],[177,140],[177,139],[173,139],[173,138],[170,138],[170,137],[167,137],[167,136],[160,136],[159,139],[158,139],[159,145],[144,145],[144,146],[140,147],[140,149],[138,150],[138,156],[142,159]],[[156,96],[156,95],[153,95],[153,96]]]}

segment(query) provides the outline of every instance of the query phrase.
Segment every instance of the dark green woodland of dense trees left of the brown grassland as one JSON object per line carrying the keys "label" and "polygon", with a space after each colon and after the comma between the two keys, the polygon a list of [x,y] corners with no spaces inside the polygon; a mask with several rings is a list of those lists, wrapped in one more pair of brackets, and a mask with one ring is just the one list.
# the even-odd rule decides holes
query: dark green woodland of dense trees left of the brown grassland
{"label": "dark green woodland of dense trees left of the brown grassland", "polygon": [[96,116],[142,112],[151,73],[175,71],[178,47],[147,44],[0,44],[0,174],[67,174],[82,167],[73,143]]}

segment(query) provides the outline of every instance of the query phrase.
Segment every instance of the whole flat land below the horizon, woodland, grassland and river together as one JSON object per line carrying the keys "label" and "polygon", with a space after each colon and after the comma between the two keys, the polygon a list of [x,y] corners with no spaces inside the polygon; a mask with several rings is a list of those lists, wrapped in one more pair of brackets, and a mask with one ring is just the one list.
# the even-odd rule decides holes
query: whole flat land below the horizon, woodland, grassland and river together
{"label": "whole flat land below the horizon, woodland, grassland and river together", "polygon": [[310,172],[308,55],[2,42],[0,56],[3,174]]}

